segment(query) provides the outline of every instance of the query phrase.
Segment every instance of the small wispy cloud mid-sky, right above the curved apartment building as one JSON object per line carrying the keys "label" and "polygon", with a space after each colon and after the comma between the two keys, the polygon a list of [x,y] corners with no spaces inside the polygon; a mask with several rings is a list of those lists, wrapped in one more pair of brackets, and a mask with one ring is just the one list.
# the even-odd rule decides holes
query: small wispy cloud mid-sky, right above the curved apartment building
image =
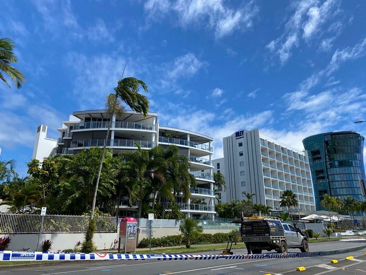
{"label": "small wispy cloud mid-sky, right above the curved apartment building", "polygon": [[176,80],[182,77],[191,77],[198,72],[201,67],[205,65],[204,62],[197,59],[197,57],[189,52],[186,55],[179,56],[169,66],[167,74],[169,78]]}

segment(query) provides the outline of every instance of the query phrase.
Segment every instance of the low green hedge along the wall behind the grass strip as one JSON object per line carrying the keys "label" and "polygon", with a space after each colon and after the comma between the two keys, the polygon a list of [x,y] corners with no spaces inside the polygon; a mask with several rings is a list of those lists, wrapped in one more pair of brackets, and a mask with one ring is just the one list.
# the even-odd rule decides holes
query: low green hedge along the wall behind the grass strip
{"label": "low green hedge along the wall behind the grass strip", "polygon": [[[207,245],[210,243],[226,243],[230,233],[201,234],[197,238],[192,239],[192,245]],[[143,238],[138,243],[139,248],[149,247],[149,238]],[[167,247],[184,245],[182,235],[171,235],[160,238],[151,238],[151,247]]]}

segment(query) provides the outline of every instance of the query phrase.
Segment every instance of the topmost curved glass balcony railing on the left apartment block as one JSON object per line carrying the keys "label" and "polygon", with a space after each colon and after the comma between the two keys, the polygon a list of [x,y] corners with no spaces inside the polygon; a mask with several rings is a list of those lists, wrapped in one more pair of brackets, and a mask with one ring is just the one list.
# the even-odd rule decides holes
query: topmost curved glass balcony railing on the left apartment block
{"label": "topmost curved glass balcony railing on the left apartment block", "polygon": [[[155,124],[141,123],[141,122],[128,122],[128,121],[91,121],[91,122],[78,122],[72,125],[73,130],[80,129],[98,129],[108,128],[108,124],[111,123],[111,128],[117,129],[138,129],[155,131]],[[113,123],[115,124],[113,127]]]}

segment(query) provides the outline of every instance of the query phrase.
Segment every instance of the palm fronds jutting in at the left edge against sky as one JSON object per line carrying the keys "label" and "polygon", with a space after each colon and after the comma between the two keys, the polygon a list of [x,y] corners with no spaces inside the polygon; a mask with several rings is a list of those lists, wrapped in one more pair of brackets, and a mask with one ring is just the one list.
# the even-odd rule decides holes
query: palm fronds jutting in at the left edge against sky
{"label": "palm fronds jutting in at the left edge against sky", "polygon": [[1,73],[2,71],[8,74],[14,81],[15,87],[20,89],[26,79],[18,69],[11,66],[11,63],[18,62],[18,58],[14,54],[14,47],[15,44],[11,38],[0,38],[0,79],[10,88],[8,81],[6,81],[4,75]]}

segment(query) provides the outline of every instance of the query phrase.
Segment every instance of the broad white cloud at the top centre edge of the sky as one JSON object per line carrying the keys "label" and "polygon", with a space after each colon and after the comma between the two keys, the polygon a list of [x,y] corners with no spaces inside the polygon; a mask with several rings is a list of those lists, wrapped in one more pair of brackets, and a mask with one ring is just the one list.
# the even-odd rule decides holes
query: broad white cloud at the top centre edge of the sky
{"label": "broad white cloud at the top centre edge of the sky", "polygon": [[149,0],[144,5],[149,23],[172,14],[182,27],[204,25],[213,29],[216,38],[228,36],[234,30],[245,31],[253,26],[253,19],[259,12],[254,1],[238,9],[224,5],[223,0]]}

